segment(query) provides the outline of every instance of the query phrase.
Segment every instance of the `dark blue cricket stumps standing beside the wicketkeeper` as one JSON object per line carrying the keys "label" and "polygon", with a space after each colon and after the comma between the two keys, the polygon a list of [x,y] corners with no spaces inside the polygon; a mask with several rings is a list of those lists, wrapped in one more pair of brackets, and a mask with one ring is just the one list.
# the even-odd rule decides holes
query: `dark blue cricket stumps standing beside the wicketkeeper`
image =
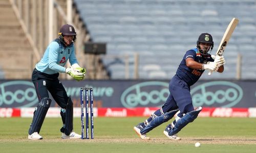
{"label": "dark blue cricket stumps standing beside the wicketkeeper", "polygon": [[[80,89],[80,104],[81,104],[81,139],[84,139],[84,91],[86,95],[86,139],[89,139],[89,95],[90,95],[90,116],[91,116],[91,139],[94,139],[94,118],[93,118],[93,89]],[[90,91],[90,94],[89,94]]]}

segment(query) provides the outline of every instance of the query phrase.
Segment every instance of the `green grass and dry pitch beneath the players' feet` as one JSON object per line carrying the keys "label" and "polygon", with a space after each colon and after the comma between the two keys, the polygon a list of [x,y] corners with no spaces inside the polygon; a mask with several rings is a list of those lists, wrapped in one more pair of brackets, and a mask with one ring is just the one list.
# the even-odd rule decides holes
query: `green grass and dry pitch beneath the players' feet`
{"label": "green grass and dry pitch beneath the players' feet", "polygon": [[[32,118],[0,119],[0,152],[255,152],[256,118],[198,118],[181,130],[181,141],[163,134],[167,123],[140,140],[133,126],[145,118],[95,118],[94,140],[62,140],[60,118],[46,118],[40,135],[44,140],[28,140]],[[80,133],[80,119],[74,119]],[[200,142],[200,147],[195,147]]]}

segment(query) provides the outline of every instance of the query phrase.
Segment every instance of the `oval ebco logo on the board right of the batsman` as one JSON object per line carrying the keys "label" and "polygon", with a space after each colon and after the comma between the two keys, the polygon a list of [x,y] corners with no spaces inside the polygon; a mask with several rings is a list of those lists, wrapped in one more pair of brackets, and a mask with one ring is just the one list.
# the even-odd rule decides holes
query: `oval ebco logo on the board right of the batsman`
{"label": "oval ebco logo on the board right of the batsman", "polygon": [[194,106],[211,106],[218,103],[219,107],[236,105],[243,97],[243,90],[235,83],[228,81],[212,81],[196,86],[191,90]]}

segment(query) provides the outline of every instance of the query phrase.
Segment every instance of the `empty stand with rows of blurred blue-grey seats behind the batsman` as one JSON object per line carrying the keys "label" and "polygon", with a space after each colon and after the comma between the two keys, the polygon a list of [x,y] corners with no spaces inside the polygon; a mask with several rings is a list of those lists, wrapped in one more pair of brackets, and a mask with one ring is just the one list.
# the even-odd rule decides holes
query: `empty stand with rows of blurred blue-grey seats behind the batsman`
{"label": "empty stand with rows of blurred blue-grey seats behind the batsman", "polygon": [[[201,33],[211,33],[216,53],[232,17],[240,23],[225,51],[224,75],[203,78],[236,78],[237,55],[242,55],[242,79],[255,78],[256,2],[254,0],[124,1],[75,0],[94,41],[108,43],[108,54],[139,53],[142,79],[170,79],[184,55],[196,48]],[[113,59],[114,60],[114,59]],[[130,62],[133,64],[133,62]],[[107,64],[107,63],[105,63]],[[112,78],[123,78],[124,65],[109,65]],[[131,65],[130,69],[134,67]],[[118,70],[118,74],[115,72]],[[131,70],[133,72],[133,70]],[[132,75],[130,75],[132,76]]]}

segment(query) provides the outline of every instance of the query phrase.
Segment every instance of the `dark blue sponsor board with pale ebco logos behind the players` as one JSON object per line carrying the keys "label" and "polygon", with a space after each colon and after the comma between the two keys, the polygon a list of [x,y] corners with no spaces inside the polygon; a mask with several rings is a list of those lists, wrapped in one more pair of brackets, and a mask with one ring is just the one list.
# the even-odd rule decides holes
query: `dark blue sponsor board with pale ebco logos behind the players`
{"label": "dark blue sponsor board with pale ebco logos behind the players", "polygon": [[[75,107],[80,88],[92,87],[95,107],[158,107],[168,97],[168,80],[62,80]],[[194,106],[256,107],[256,81],[198,81],[191,86]],[[52,97],[50,97],[52,98]],[[34,107],[34,85],[29,80],[0,80],[0,107]],[[52,106],[57,106],[52,102]]]}

